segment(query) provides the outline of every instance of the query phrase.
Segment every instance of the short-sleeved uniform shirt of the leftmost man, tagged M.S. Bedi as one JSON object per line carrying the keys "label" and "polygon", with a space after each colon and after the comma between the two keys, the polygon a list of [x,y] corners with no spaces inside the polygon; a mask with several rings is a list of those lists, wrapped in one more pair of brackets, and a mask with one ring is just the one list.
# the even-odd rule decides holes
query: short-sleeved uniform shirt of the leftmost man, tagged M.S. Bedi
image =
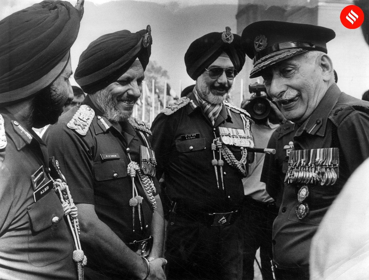
{"label": "short-sleeved uniform shirt of the leftmost man, tagged M.S. Bedi", "polygon": [[76,280],[73,240],[59,198],[51,189],[34,201],[31,175],[41,166],[48,170],[45,143],[1,113],[7,146],[0,149],[0,279]]}

